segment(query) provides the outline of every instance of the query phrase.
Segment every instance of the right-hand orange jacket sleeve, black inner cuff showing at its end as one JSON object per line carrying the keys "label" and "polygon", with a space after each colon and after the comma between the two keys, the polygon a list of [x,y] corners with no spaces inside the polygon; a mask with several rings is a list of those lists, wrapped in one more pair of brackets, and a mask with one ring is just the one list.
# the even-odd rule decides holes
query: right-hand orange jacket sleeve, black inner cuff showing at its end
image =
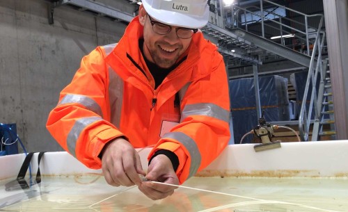
{"label": "right-hand orange jacket sleeve, black inner cuff showing at its end", "polygon": [[[221,54],[215,51],[198,70],[211,68],[210,74],[193,80],[182,98],[182,117],[171,132],[166,133],[150,152],[168,149],[177,154],[180,184],[207,167],[219,156],[230,139],[230,97],[226,67]],[[204,67],[203,67],[204,66]]]}

